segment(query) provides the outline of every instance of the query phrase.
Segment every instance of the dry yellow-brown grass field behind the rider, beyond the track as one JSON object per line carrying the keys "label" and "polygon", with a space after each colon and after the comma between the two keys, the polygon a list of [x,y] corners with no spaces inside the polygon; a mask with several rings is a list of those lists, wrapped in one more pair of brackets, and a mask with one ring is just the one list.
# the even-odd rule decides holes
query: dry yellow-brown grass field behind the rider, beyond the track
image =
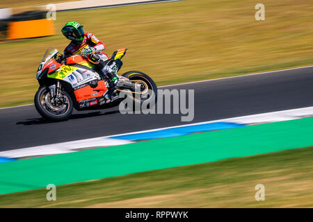
{"label": "dry yellow-brown grass field behind the rider, beyond the track", "polygon": [[121,72],[143,71],[157,85],[249,74],[313,63],[313,5],[264,0],[184,0],[58,12],[56,35],[0,44],[0,107],[33,102],[35,71],[48,46],[63,51],[62,26],[77,20],[106,44],[129,49]]}

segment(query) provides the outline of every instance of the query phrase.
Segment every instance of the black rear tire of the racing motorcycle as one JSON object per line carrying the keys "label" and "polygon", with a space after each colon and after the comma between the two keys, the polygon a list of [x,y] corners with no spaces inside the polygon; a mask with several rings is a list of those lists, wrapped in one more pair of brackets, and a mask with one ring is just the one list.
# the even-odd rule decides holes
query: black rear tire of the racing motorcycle
{"label": "black rear tire of the racing motorcycle", "polygon": [[[122,76],[129,78],[129,80],[131,81],[136,81],[136,80],[141,80],[145,83],[147,83],[147,87],[148,89],[152,90],[152,96],[154,96],[154,104],[152,105],[152,107],[157,103],[157,85],[154,83],[154,80],[152,80],[152,78],[150,78],[150,76],[148,76],[147,74],[144,74],[141,71],[127,71],[125,74],[122,74]],[[140,103],[143,104],[144,102],[148,102],[150,99],[152,99],[152,97],[148,100],[145,101],[138,101],[135,99],[135,94],[133,94],[132,99],[134,101],[134,106],[133,108],[136,107],[136,103]],[[147,105],[147,108],[150,108],[150,103]]]}

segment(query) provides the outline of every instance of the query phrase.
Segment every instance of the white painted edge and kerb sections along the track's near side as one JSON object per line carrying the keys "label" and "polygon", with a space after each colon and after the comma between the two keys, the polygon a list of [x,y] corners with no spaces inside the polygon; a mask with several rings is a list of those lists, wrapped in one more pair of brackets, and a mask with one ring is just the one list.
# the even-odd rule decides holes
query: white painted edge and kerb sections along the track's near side
{"label": "white painted edge and kerb sections along the track's near side", "polygon": [[113,139],[111,137],[131,135],[137,133],[148,133],[159,130],[166,130],[170,128],[180,128],[185,126],[195,126],[205,123],[216,123],[216,122],[228,122],[228,123],[241,123],[241,124],[259,124],[259,123],[270,123],[275,121],[287,121],[291,119],[300,119],[303,117],[313,116],[313,106],[307,108],[299,108],[293,110],[282,110],[276,112],[266,112],[261,114],[252,114],[243,117],[233,117],[227,119],[218,119],[213,121],[203,121],[200,123],[191,123],[181,126],[170,126],[166,128],[157,128],[153,130],[143,130],[133,133],[124,133],[118,135],[110,135],[106,137],[97,137],[92,139],[81,139],[72,142],[63,142],[58,144],[49,144],[44,146],[34,146],[29,148],[20,148],[11,151],[0,152],[0,157],[18,158],[18,157],[29,157],[38,155],[52,155],[59,153],[71,153],[79,151],[83,148],[97,148],[104,146],[117,146],[122,144],[129,144],[131,141],[125,139]]}

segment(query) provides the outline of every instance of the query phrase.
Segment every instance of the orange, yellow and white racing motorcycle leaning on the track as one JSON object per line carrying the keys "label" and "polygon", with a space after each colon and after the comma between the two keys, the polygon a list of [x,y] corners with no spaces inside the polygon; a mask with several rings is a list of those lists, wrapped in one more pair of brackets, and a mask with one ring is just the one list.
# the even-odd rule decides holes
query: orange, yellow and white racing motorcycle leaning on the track
{"label": "orange, yellow and white racing motorcycle leaning on the track", "polygon": [[[111,108],[126,97],[134,103],[133,107],[157,101],[157,85],[141,71],[127,71],[119,76],[112,96],[107,99],[109,81],[93,63],[80,55],[65,58],[57,49],[48,51],[38,67],[40,87],[34,99],[42,117],[62,121],[71,116],[73,108],[78,111]],[[126,51],[119,49],[106,61],[115,73],[119,71],[117,60],[120,62]]]}

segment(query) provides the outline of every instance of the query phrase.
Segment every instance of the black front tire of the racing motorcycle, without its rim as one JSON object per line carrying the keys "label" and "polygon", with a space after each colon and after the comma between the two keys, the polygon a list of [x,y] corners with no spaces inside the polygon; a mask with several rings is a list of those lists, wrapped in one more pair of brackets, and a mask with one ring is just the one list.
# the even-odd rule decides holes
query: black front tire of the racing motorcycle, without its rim
{"label": "black front tire of the racing motorcycle, without its rim", "polygon": [[[42,96],[46,95],[47,93],[49,93],[49,90],[47,89],[47,87],[40,87],[38,89],[38,91],[35,94],[35,99],[34,99],[34,103],[35,103],[35,108],[36,110],[39,112],[39,114],[49,120],[52,121],[63,121],[65,119],[68,119],[72,112],[73,112],[73,101],[72,98],[69,96],[69,94],[67,94],[67,92],[61,90],[61,92],[65,95],[66,99],[67,99],[67,104],[63,104],[66,106],[65,108],[65,112],[62,112],[60,114],[56,114],[52,111],[49,110],[49,108],[47,108],[47,105],[45,105],[42,102]],[[46,101],[47,102],[47,101]],[[51,103],[50,103],[51,105]]]}

